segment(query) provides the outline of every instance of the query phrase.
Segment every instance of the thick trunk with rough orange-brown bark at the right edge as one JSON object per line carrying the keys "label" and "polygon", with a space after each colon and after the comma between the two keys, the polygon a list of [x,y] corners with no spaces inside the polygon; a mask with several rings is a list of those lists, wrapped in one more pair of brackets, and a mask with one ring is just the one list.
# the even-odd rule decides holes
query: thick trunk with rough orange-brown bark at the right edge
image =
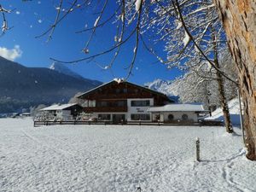
{"label": "thick trunk with rough orange-brown bark at the right edge", "polygon": [[256,3],[214,0],[236,61],[243,98],[247,158],[256,160]]}

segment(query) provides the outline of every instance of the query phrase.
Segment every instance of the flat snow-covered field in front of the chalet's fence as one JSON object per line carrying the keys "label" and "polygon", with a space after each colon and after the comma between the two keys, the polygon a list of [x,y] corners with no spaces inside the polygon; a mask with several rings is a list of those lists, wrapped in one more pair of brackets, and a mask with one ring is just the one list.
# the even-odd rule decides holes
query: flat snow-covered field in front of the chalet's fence
{"label": "flat snow-covered field in front of the chalet's fence", "polygon": [[235,131],[0,119],[0,191],[256,191],[256,162]]}

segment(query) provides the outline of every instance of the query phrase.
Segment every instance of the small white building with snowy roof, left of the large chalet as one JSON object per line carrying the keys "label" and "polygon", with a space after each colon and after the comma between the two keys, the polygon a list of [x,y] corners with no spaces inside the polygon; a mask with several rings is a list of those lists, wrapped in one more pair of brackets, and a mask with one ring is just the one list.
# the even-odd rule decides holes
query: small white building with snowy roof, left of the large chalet
{"label": "small white building with snowy roof, left of the large chalet", "polygon": [[74,119],[83,108],[78,103],[55,104],[47,108],[40,109],[40,112],[49,112],[59,120]]}

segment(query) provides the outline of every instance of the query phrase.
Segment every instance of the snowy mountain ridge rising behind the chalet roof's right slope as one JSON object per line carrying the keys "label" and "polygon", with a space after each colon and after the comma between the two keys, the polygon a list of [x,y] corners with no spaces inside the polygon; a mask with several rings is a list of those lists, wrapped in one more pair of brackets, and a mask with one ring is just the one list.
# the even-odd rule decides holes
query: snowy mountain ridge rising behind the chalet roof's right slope
{"label": "snowy mountain ridge rising behind the chalet roof's right slope", "polygon": [[172,83],[172,81],[155,79],[153,82],[146,83],[145,85],[148,86],[149,89],[160,91],[167,96],[178,96],[178,87],[176,84]]}

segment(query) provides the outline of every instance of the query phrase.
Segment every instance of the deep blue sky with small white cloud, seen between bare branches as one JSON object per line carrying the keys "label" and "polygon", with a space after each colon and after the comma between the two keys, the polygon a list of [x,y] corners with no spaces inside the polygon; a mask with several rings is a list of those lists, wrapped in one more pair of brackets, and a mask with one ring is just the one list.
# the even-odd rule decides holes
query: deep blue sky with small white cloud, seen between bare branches
{"label": "deep blue sky with small white cloud, seen between bare branches", "polygon": [[[15,61],[26,67],[49,67],[53,62],[49,60],[50,57],[61,61],[73,61],[87,56],[81,49],[84,48],[90,33],[76,34],[75,32],[83,29],[85,25],[93,26],[97,15],[84,9],[73,12],[55,29],[53,39],[46,43],[47,36],[35,37],[53,24],[56,14],[54,6],[58,1],[35,0],[24,3],[21,0],[3,0],[1,3],[6,9],[14,10],[12,14],[7,15],[9,26],[13,28],[0,38],[0,50],[4,49],[12,53],[16,51]],[[107,12],[107,16],[108,14],[110,13]],[[112,24],[99,29],[90,44],[89,55],[108,49],[113,44],[114,32],[115,28]],[[66,64],[66,66],[84,78],[97,79],[102,82],[108,82],[113,78],[124,78],[127,74],[125,67],[131,61],[133,47],[133,41],[125,44],[111,70],[103,70],[98,64],[108,65],[113,53],[96,58],[95,61]],[[164,54],[161,49],[161,47],[157,49],[158,53]],[[154,55],[150,55],[140,44],[133,75],[129,81],[144,84],[154,79],[172,80],[180,74],[177,69],[167,69],[166,66],[155,61]]]}

